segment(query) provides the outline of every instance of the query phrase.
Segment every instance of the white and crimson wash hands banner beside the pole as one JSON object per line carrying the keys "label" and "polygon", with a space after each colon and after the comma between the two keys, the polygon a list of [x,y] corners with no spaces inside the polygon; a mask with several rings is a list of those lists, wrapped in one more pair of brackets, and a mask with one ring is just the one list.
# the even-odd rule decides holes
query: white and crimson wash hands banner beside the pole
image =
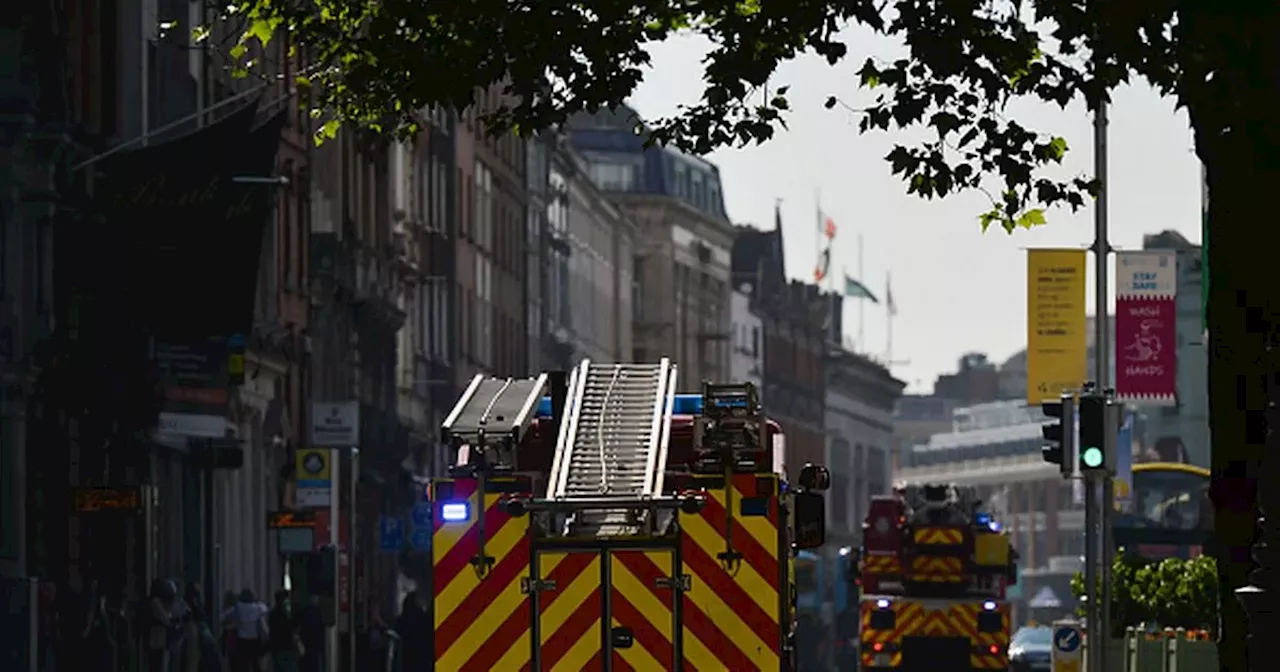
{"label": "white and crimson wash hands banner beside the pole", "polygon": [[1116,398],[1178,403],[1178,256],[1116,255]]}

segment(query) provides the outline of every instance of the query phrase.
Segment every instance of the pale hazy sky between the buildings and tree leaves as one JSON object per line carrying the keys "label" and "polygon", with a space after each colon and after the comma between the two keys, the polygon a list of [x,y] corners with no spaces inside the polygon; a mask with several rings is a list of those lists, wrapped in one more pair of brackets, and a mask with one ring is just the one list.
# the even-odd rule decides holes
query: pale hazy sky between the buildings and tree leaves
{"label": "pale hazy sky between the buildings and tree leaves", "polygon": [[[952,371],[965,352],[986,352],[996,361],[1027,343],[1025,248],[1085,247],[1093,241],[1093,210],[1055,210],[1048,225],[982,234],[977,215],[989,207],[980,193],[924,201],[908,196],[890,175],[883,156],[901,132],[860,136],[858,119],[836,108],[828,95],[852,108],[870,100],[858,90],[855,72],[868,55],[892,59],[893,44],[847,31],[850,58],[831,68],[818,58],[785,65],[771,86],[787,84],[792,114],[790,131],[771,142],[744,150],[722,150],[709,159],[719,165],[730,218],[736,223],[773,227],[773,205],[782,200],[787,274],[813,279],[817,260],[817,195],[835,219],[838,236],[832,274],[858,274],[863,237],[864,283],[883,301],[892,273],[893,374],[911,392],[928,392],[940,372]],[[653,70],[631,99],[644,116],[662,116],[694,102],[701,93],[700,59],[705,42],[696,37],[669,40],[652,50]],[[1083,105],[1059,110],[1025,102],[1011,110],[1024,125],[1066,138],[1070,151],[1064,174],[1092,173],[1092,119]],[[1187,115],[1146,84],[1115,92],[1110,124],[1111,244],[1142,247],[1142,236],[1176,229],[1199,242],[1199,161],[1192,150]],[[1091,268],[1092,278],[1092,268]],[[1114,274],[1112,274],[1114,276]],[[1092,283],[1092,279],[1091,279]],[[847,302],[851,303],[851,302]],[[1089,308],[1093,294],[1089,292]],[[845,308],[845,333],[858,335],[859,310]],[[865,343],[859,349],[883,356],[887,314],[883,303],[864,307]]]}

